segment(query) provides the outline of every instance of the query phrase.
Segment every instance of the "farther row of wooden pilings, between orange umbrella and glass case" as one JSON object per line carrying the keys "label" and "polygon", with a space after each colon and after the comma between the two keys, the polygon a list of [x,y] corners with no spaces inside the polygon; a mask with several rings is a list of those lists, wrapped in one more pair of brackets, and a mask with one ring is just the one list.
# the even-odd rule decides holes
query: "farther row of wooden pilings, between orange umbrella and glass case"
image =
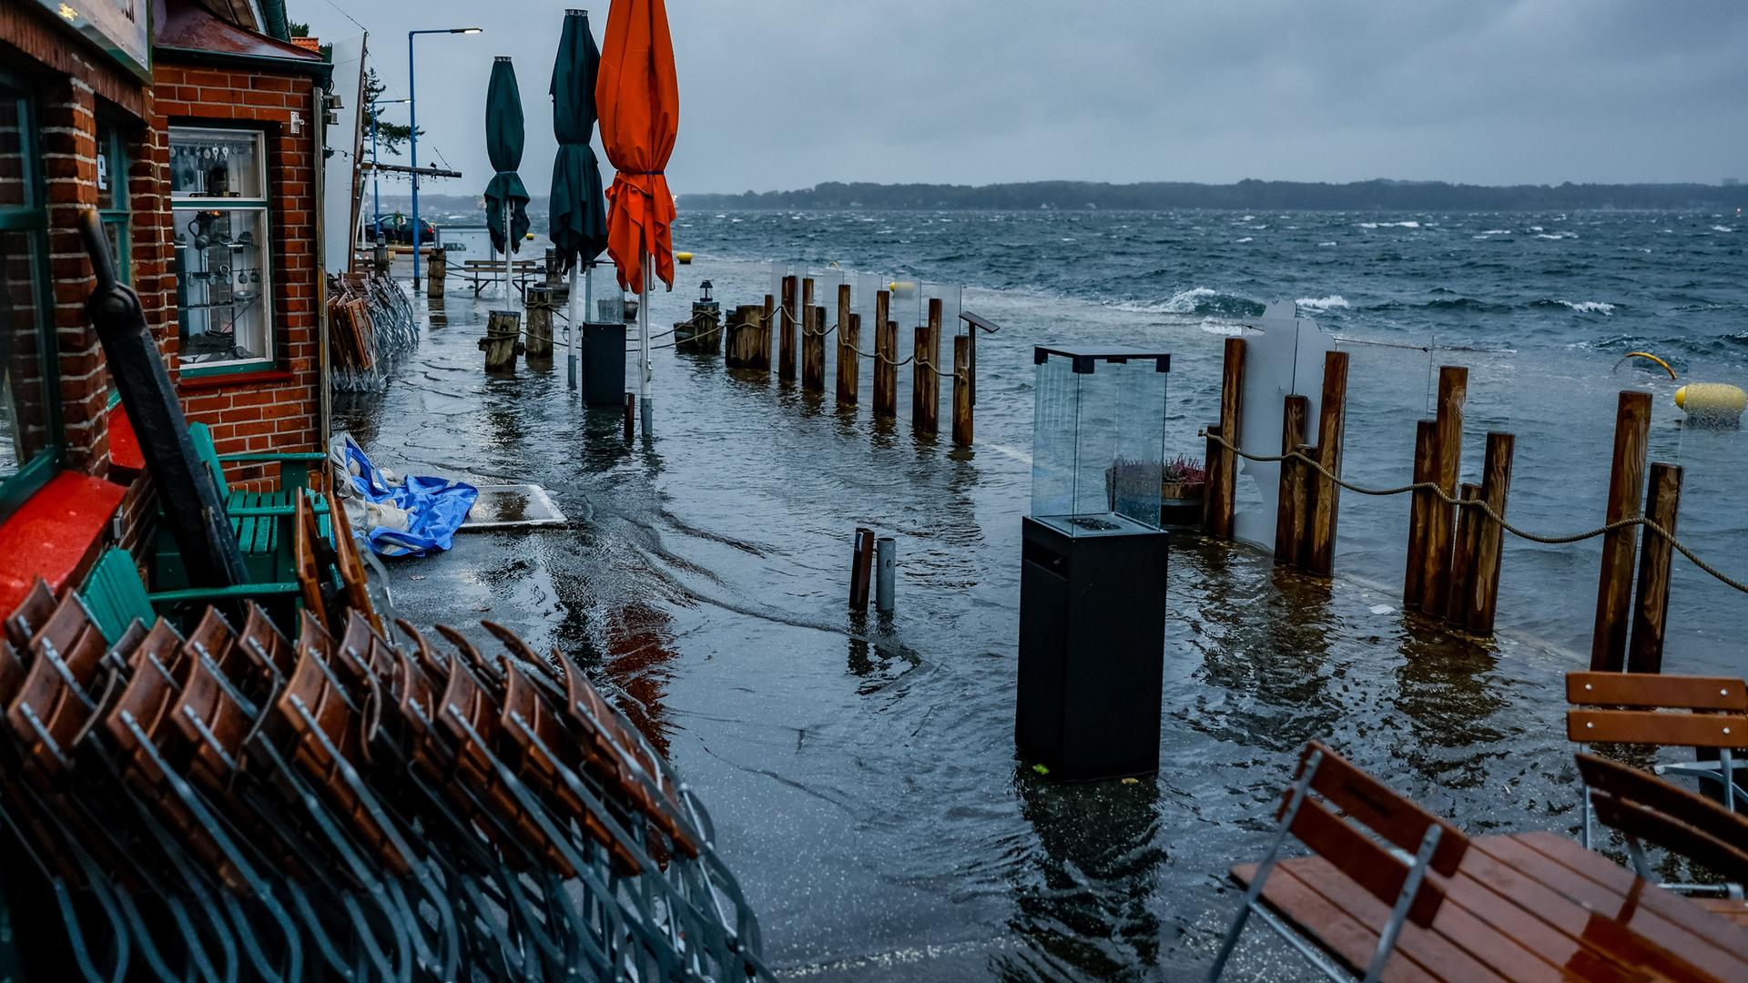
{"label": "farther row of wooden pilings, between orange umbrella and glass case", "polygon": [[[771,345],[776,336],[776,374],[783,381],[799,381],[802,392],[825,392],[825,339],[837,332],[837,376],[836,397],[839,406],[857,406],[860,397],[858,380],[862,371],[862,315],[850,310],[850,285],[837,287],[837,324],[829,327],[827,308],[813,303],[813,278],[785,276],[781,280],[781,301],[766,294],[762,304],[741,304],[734,308],[729,324],[724,327],[724,366],[731,369],[757,369],[769,373],[773,367]],[[787,311],[801,303],[801,322]],[[898,416],[898,366],[912,366],[911,388],[911,425],[923,434],[937,434],[940,429],[940,334],[942,304],[940,297],[930,297],[926,324],[916,327],[911,359],[898,359],[898,322],[886,317],[891,308],[891,292],[877,290],[874,296],[874,394],[872,409],[876,418]],[[799,345],[795,329],[801,327]],[[774,329],[774,331],[773,331]],[[975,331],[975,327],[972,329]],[[799,353],[799,380],[797,380]],[[953,339],[953,443],[970,446],[974,436],[972,422],[972,385],[974,385],[972,339],[968,334]]]}

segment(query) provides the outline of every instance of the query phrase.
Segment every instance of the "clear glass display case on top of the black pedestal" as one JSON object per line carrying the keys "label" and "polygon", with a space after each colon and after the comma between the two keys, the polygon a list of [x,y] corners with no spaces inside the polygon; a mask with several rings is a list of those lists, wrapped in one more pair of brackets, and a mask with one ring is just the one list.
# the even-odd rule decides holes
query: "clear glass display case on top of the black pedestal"
{"label": "clear glass display case on top of the black pedestal", "polygon": [[1070,537],[1159,528],[1171,355],[1033,352],[1031,518]]}

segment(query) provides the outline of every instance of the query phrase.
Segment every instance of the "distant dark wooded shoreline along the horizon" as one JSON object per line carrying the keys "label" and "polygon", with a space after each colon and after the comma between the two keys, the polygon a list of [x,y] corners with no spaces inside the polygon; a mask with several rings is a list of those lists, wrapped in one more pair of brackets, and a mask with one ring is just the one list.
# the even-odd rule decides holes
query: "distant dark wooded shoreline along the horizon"
{"label": "distant dark wooded shoreline along the horizon", "polygon": [[[383,196],[383,212],[406,210],[406,196]],[[1349,184],[1241,180],[1238,184],[1024,182],[1024,184],[841,184],[741,194],[682,192],[680,212],[1731,212],[1748,206],[1748,185],[1722,184],[1524,184],[1363,180]],[[479,198],[421,194],[427,215],[479,208]],[[537,196],[530,212],[545,212]]]}

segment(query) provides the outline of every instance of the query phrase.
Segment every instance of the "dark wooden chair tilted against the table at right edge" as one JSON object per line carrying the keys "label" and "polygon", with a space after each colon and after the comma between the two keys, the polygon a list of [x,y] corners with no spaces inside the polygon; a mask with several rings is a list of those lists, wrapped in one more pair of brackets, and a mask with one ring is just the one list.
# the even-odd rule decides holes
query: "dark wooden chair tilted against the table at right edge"
{"label": "dark wooden chair tilted against the table at right edge", "polygon": [[1594,754],[1578,754],[1577,761],[1596,819],[1626,836],[1627,857],[1638,876],[1652,883],[1659,880],[1645,859],[1643,841],[1650,841],[1727,878],[1724,885],[1708,885],[1725,896],[1720,911],[1743,908],[1748,819],[1638,768]]}

